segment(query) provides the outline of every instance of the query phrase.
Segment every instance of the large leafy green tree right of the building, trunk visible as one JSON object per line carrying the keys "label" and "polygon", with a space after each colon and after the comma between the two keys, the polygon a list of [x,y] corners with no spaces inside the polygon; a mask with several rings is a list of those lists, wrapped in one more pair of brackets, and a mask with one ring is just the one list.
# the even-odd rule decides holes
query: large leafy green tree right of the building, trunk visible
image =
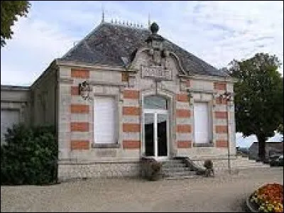
{"label": "large leafy green tree right of the building, trunk visible", "polygon": [[257,53],[253,58],[230,63],[234,85],[236,131],[256,134],[258,158],[264,160],[266,140],[283,123],[283,77],[275,55]]}

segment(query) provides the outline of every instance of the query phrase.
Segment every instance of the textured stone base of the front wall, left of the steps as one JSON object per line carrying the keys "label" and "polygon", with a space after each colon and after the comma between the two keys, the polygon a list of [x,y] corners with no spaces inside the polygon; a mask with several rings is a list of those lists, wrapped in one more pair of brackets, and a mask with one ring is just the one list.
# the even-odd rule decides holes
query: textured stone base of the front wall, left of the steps
{"label": "textured stone base of the front wall, left of the steps", "polygon": [[135,163],[59,163],[58,180],[77,178],[119,178],[140,174],[140,164]]}

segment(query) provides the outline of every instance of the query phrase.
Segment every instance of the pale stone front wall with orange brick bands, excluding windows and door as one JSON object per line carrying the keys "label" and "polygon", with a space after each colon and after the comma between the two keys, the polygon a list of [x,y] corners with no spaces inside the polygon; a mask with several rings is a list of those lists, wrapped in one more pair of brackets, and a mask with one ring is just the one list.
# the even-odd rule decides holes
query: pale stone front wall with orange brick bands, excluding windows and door
{"label": "pale stone front wall with orange brick bands, excluding windows and door", "polygon": [[[71,178],[71,176],[75,178],[75,173],[78,174],[77,178],[137,175],[137,166],[132,167],[129,163],[123,162],[134,161],[136,162],[135,165],[138,165],[141,156],[144,155],[143,97],[156,94],[156,92],[169,100],[168,149],[170,152],[168,158],[187,156],[192,160],[211,158],[224,159],[223,161],[226,162],[228,156],[227,143],[230,144],[231,158],[234,158],[234,104],[228,107],[217,100],[218,95],[224,93],[226,89],[233,92],[233,82],[219,77],[178,77],[180,68],[175,60],[169,58],[168,68],[173,71],[173,80],[158,82],[158,88],[156,88],[153,79],[141,77],[141,68],[139,67],[143,63],[147,64],[147,60],[149,60],[148,55],[138,51],[131,67],[133,72],[128,74],[128,81],[123,80],[124,70],[108,70],[107,67],[59,65],[59,162],[64,162],[59,165],[59,178],[66,179]],[[80,74],[81,72],[82,74]],[[116,98],[117,120],[119,122],[116,125],[118,143],[114,147],[98,148],[95,146],[93,131],[94,102],[92,99],[82,99],[76,90],[78,84],[85,80],[92,86],[92,97],[110,95]],[[187,89],[192,94],[190,100],[187,99]],[[194,146],[194,115],[192,114],[192,108],[194,102],[199,101],[208,102],[212,111],[211,147]],[[88,110],[84,113],[82,111],[72,113],[70,111],[71,105],[87,106]],[[224,117],[228,109],[229,133],[226,132],[228,122]],[[216,112],[221,112],[221,116],[216,116]],[[79,130],[76,131],[76,129],[70,129],[72,124],[82,126],[79,126]],[[77,146],[74,145],[75,143],[77,143]],[[105,161],[108,163],[104,163]],[[220,165],[225,166],[226,163]],[[106,168],[103,169],[104,167]],[[71,176],[68,170],[72,170]],[[104,172],[99,172],[101,170]]]}

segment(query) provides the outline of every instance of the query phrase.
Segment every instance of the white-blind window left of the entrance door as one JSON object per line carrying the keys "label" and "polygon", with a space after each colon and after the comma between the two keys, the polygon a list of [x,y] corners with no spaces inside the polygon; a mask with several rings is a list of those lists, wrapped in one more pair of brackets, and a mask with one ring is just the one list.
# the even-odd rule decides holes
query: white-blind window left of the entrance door
{"label": "white-blind window left of the entrance door", "polygon": [[94,97],[94,143],[116,143],[114,97]]}

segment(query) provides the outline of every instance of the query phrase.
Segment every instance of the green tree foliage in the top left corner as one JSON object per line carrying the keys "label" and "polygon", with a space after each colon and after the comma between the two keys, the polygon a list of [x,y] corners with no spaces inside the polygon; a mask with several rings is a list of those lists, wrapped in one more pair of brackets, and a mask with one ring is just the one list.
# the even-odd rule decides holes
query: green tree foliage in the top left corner
{"label": "green tree foliage in the top left corner", "polygon": [[18,21],[18,16],[26,16],[31,4],[28,1],[1,1],[1,47],[11,39],[11,26]]}

